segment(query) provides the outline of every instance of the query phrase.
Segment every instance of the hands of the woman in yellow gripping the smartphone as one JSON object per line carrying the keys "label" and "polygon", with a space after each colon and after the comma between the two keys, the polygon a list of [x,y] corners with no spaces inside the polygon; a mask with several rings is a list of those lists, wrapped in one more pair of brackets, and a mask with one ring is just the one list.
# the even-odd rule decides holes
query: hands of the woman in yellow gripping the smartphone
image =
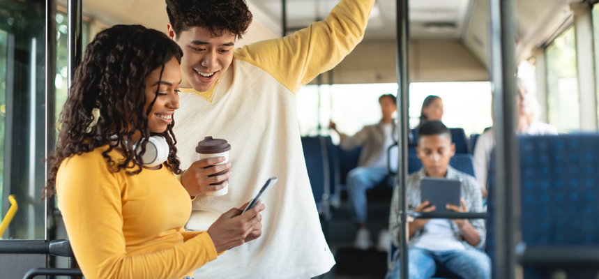
{"label": "hands of the woman in yellow gripping the smartphone", "polygon": [[208,228],[207,232],[214,243],[216,252],[225,252],[261,236],[262,216],[260,212],[266,206],[262,202],[258,202],[252,209],[241,214],[248,204],[249,202],[242,209],[231,209],[225,212]]}

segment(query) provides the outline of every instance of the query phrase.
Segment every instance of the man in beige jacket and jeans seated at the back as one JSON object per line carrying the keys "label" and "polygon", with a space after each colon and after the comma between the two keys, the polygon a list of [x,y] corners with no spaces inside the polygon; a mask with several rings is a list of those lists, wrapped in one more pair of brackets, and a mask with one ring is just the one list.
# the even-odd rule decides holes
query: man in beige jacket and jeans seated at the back
{"label": "man in beige jacket and jeans seated at the back", "polygon": [[[383,119],[377,124],[365,126],[351,137],[338,131],[333,121],[329,123],[329,128],[339,133],[342,149],[350,151],[362,146],[358,167],[347,174],[347,193],[351,202],[350,210],[358,225],[354,246],[363,250],[372,246],[370,231],[366,228],[368,217],[366,190],[374,188],[386,179],[389,173],[387,150],[395,142],[392,133],[397,133],[397,126],[393,121],[393,112],[397,110],[397,99],[391,94],[386,94],[379,97],[379,104]],[[388,230],[383,229],[379,234],[377,248],[388,250],[389,241]]]}

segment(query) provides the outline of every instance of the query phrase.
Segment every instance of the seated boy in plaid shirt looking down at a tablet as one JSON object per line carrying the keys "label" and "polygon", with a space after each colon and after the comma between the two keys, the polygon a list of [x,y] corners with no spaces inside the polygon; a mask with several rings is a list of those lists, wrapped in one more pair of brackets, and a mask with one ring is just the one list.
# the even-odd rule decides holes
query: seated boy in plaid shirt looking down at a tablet
{"label": "seated boy in plaid shirt looking down at a tablet", "polygon": [[[447,204],[447,209],[457,212],[483,211],[483,197],[476,179],[449,166],[455,146],[451,143],[450,130],[441,121],[428,121],[420,126],[416,152],[423,168],[408,177],[409,210],[430,212],[436,209],[435,206],[429,206],[427,201],[420,203],[420,181],[430,176],[461,181],[461,206]],[[395,188],[389,219],[391,238],[395,246],[399,246],[402,237],[399,211],[400,190]],[[409,278],[432,278],[437,270],[453,273],[460,278],[491,277],[490,259],[478,250],[485,243],[484,220],[415,219],[409,223],[409,234]],[[387,278],[399,278],[399,257],[397,259]]]}

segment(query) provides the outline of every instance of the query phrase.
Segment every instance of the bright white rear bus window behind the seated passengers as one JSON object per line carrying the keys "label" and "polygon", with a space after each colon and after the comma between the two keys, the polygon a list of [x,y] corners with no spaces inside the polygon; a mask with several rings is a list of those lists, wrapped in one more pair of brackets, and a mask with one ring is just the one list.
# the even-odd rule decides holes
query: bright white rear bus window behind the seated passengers
{"label": "bright white rear bus window behind the seated passengers", "polygon": [[[379,96],[397,94],[397,84],[306,85],[297,93],[301,135],[328,135],[328,121],[354,135],[364,126],[381,120]],[[320,95],[320,100],[319,100]],[[443,122],[464,128],[467,135],[483,133],[493,126],[490,82],[412,82],[410,84],[409,125],[416,128],[424,98],[437,95],[443,100]],[[318,119],[320,116],[320,119]],[[321,130],[318,130],[320,123]],[[333,142],[338,135],[331,133]]]}

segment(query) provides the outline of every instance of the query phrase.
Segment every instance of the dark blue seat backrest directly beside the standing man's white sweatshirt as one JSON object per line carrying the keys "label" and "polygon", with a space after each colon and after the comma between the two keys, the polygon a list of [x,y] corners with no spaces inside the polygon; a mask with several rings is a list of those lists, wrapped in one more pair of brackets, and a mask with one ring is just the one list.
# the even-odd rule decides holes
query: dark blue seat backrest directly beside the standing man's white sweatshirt
{"label": "dark blue seat backrest directly beside the standing man's white sweatshirt", "polygon": [[301,143],[312,194],[319,206],[324,194],[329,191],[330,183],[326,142],[322,137],[302,137]]}

